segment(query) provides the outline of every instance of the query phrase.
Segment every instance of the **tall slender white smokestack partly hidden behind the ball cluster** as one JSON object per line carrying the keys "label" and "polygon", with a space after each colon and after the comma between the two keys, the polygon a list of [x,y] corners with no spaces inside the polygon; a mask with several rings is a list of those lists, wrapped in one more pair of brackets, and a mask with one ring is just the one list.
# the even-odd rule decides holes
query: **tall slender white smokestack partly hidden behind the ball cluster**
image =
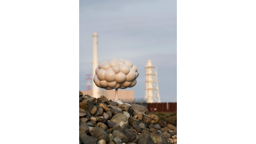
{"label": "tall slender white smokestack partly hidden behind the ball cluster", "polygon": [[[93,33],[93,77],[95,75],[95,69],[99,65],[98,60],[98,35],[97,32]],[[99,98],[100,97],[100,89],[95,85],[93,82],[93,97]]]}

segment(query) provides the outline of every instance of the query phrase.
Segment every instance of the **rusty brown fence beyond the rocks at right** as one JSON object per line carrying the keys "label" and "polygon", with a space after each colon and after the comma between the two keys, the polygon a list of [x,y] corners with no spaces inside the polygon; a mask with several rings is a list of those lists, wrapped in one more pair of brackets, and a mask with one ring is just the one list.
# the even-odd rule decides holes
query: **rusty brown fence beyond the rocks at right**
{"label": "rusty brown fence beyond the rocks at right", "polygon": [[148,112],[177,112],[176,102],[147,103]]}

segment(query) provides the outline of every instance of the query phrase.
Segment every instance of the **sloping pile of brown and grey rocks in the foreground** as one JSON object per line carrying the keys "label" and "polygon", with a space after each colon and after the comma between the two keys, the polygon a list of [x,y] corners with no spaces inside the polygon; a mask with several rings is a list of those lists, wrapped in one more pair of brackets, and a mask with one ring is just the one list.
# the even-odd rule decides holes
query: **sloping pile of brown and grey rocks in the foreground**
{"label": "sloping pile of brown and grey rocks in the foreground", "polygon": [[79,144],[177,144],[177,130],[145,106],[79,91]]}

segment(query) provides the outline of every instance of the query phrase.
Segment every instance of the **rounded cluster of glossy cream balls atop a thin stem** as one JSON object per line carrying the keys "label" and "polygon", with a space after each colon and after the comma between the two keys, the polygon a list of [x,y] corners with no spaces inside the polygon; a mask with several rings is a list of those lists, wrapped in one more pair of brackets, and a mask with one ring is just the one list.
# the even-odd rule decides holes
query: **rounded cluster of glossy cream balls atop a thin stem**
{"label": "rounded cluster of glossy cream balls atop a thin stem", "polygon": [[130,60],[113,58],[99,64],[93,81],[96,86],[107,90],[126,89],[136,85],[138,76],[139,71]]}

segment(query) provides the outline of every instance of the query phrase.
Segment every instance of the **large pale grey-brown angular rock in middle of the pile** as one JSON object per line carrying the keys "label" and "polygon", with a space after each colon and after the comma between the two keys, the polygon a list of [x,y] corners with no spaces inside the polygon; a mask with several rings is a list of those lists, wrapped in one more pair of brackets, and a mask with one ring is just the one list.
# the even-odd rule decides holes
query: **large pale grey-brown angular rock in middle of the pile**
{"label": "large pale grey-brown angular rock in middle of the pile", "polygon": [[127,120],[124,114],[116,114],[114,115],[110,121],[116,123],[116,125],[120,125],[124,130],[129,128],[129,121]]}

